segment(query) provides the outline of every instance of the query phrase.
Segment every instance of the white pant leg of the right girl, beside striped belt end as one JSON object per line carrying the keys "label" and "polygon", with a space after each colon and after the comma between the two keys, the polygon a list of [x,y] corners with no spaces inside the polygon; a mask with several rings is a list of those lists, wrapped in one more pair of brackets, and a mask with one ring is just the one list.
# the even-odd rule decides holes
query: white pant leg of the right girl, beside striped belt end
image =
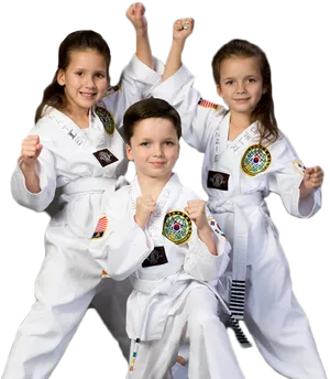
{"label": "white pant leg of the right girl, beside striped belt end", "polygon": [[271,238],[264,257],[255,259],[250,269],[245,322],[263,358],[290,379],[326,378],[279,241]]}

